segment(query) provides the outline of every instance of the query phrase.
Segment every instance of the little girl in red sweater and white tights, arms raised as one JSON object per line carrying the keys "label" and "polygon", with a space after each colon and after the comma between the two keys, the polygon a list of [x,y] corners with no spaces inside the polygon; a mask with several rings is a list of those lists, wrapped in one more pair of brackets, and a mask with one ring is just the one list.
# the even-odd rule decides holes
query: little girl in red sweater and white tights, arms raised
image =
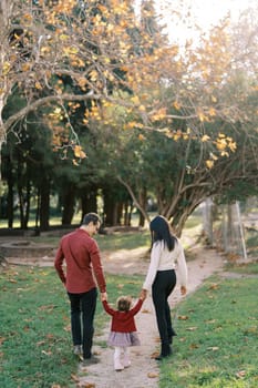
{"label": "little girl in red sweater and white tights, arms raised", "polygon": [[121,296],[116,300],[117,309],[110,307],[106,296],[102,294],[102,304],[107,314],[112,316],[111,333],[107,345],[114,346],[114,369],[120,371],[131,366],[128,346],[138,346],[134,316],[140,312],[145,294],[141,293],[138,302],[131,309],[132,298]]}

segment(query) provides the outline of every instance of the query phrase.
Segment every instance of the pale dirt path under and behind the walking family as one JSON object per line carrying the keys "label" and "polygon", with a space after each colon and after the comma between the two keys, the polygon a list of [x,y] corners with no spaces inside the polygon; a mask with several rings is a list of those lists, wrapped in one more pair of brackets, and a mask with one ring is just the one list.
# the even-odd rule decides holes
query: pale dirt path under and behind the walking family
{"label": "pale dirt path under and behind the walking family", "polygon": [[[146,274],[148,261],[143,257],[146,252],[135,249],[130,252],[116,252],[113,255],[103,255],[103,265],[106,273],[113,274]],[[216,272],[220,272],[224,259],[215,252],[197,248],[196,258],[188,262],[188,294],[193,293],[204,279]],[[171,306],[175,306],[180,300],[179,288],[171,296]],[[113,349],[93,347],[93,351],[99,355],[100,364],[79,367],[78,387],[89,388],[147,388],[158,387],[158,364],[152,358],[158,351],[158,334],[151,297],[135,317],[137,330],[142,345],[131,349],[132,366],[121,372],[113,369]],[[95,341],[106,341],[110,325],[101,337]]]}

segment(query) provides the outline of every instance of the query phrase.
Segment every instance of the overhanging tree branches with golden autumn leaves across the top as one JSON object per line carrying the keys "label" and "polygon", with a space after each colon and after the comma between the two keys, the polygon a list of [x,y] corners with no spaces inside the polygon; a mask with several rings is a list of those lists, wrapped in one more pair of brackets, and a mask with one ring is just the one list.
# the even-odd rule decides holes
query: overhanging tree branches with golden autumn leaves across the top
{"label": "overhanging tree branches with golden autumn leaves across the top", "polygon": [[[248,122],[246,102],[257,82],[257,62],[246,47],[248,72],[239,88],[242,64],[227,20],[182,50],[164,38],[162,27],[158,31],[153,12],[152,1],[144,1],[140,18],[130,0],[2,1],[0,143],[18,121],[44,105],[55,149],[65,157],[71,149],[76,163],[85,154],[71,115],[83,110],[85,131],[103,122],[112,129],[117,122],[106,112],[120,108],[120,127],[127,134],[137,130],[148,139],[156,131],[179,141],[185,169],[179,176],[189,180],[195,173],[206,186],[202,173],[209,176],[220,157],[236,150],[238,125]],[[254,31],[246,31],[248,48],[255,48]],[[9,115],[9,99],[18,92],[23,105]],[[254,105],[248,115],[256,115]],[[171,204],[169,216],[173,208]]]}

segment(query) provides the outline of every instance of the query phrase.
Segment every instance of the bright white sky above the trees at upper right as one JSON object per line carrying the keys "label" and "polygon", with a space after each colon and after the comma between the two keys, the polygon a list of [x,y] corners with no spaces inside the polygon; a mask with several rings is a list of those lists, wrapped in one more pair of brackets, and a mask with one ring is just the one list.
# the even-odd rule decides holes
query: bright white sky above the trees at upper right
{"label": "bright white sky above the trees at upper right", "polygon": [[[159,0],[157,7],[162,10],[169,35],[180,42],[186,38],[195,39],[194,23],[204,30],[209,30],[228,12],[233,20],[237,20],[240,11],[257,8],[257,0]],[[168,16],[167,9],[172,7],[183,14],[177,25]]]}

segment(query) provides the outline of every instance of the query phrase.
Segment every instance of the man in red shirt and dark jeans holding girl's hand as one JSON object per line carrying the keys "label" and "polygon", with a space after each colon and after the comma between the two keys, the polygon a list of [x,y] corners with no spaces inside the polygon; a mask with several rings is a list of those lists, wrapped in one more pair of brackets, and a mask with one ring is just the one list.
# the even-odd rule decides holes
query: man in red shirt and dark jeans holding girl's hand
{"label": "man in red shirt and dark jeans holding girl's hand", "polygon": [[93,238],[100,226],[101,218],[97,214],[84,215],[81,227],[61,238],[54,261],[55,269],[70,298],[74,354],[82,355],[86,364],[97,361],[92,355],[93,320],[97,298],[96,283],[101,296],[106,297],[100,251]]}

